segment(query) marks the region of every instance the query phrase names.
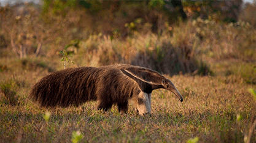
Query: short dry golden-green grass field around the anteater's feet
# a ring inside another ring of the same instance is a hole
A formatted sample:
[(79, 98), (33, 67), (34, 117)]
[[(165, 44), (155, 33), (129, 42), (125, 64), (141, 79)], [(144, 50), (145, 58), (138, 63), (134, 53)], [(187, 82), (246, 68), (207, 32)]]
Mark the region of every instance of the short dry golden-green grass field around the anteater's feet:
[[(19, 60), (1, 59), (7, 65), (8, 61)], [(47, 75), (48, 68), (12, 65), (0, 73), (1, 81), (5, 81), (1, 86), (18, 99), (7, 102), (12, 100), (1, 93), (0, 142), (71, 142), (76, 133), (82, 134), (77, 138), (81, 142), (256, 141), (256, 99), (249, 92), (255, 84), (236, 74), (223, 76), (215, 70), (215, 76), (166, 75), (184, 96), (184, 102), (167, 90), (154, 90), (152, 115), (138, 116), (132, 105), (128, 114), (120, 115), (115, 106), (108, 112), (97, 111), (96, 102), (79, 108), (40, 108), (26, 97), (31, 86)], [(221, 73), (230, 72), (225, 64), (215, 66)]]

